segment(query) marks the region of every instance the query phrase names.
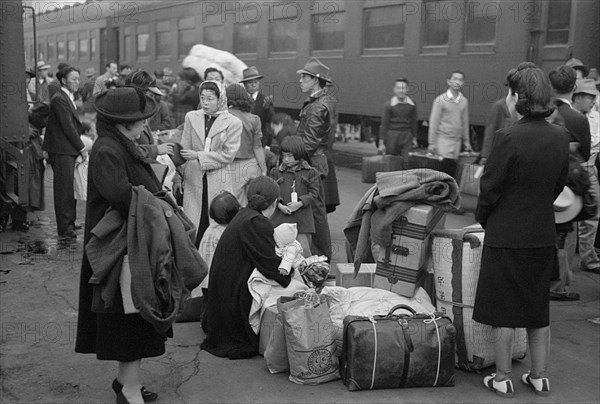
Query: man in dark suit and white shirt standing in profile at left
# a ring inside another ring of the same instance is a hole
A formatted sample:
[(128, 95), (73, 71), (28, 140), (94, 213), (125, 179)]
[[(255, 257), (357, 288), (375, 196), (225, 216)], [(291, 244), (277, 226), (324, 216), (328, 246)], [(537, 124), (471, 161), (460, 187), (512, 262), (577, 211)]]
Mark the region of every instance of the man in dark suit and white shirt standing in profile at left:
[(50, 116), (43, 149), (54, 172), (54, 213), (58, 235), (75, 238), (76, 201), (73, 190), (75, 160), (86, 159), (85, 146), (79, 137), (83, 125), (77, 115), (75, 92), (79, 88), (79, 70), (67, 67), (57, 73), (61, 89), (50, 100)]

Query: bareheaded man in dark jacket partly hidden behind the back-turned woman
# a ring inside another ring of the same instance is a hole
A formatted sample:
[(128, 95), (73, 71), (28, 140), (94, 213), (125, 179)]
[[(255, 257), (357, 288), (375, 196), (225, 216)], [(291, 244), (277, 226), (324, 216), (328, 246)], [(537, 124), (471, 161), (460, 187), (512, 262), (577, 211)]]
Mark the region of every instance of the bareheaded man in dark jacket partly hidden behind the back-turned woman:
[[(556, 111), (552, 116), (555, 124), (564, 126), (569, 132), (571, 142), (579, 143), (577, 153), (581, 156), (582, 161), (588, 161), (590, 158), (590, 124), (587, 118), (580, 112), (573, 109), (572, 98), (577, 80), (577, 73), (572, 67), (567, 65), (559, 66), (548, 75), (550, 83), (556, 95)], [(576, 225), (577, 223), (575, 223)], [(560, 279), (553, 281), (550, 285), (550, 299), (561, 301), (576, 301), (580, 296), (578, 293), (570, 291), (571, 280), (573, 279), (573, 262), (570, 259), (576, 256), (573, 251), (577, 244), (577, 229), (570, 226), (569, 231), (558, 231), (564, 233), (560, 235), (559, 245), (559, 270)], [(564, 240), (564, 245), (562, 245)], [(566, 251), (561, 251), (566, 250)], [(566, 259), (561, 259), (562, 255)]]

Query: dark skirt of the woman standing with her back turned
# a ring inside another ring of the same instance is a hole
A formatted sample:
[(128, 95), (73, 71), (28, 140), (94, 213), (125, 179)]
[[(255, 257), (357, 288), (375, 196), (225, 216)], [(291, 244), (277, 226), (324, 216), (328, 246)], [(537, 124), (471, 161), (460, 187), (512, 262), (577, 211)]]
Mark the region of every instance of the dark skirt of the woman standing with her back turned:
[(484, 245), (473, 320), (493, 327), (541, 328), (550, 324), (550, 278), (556, 248)]

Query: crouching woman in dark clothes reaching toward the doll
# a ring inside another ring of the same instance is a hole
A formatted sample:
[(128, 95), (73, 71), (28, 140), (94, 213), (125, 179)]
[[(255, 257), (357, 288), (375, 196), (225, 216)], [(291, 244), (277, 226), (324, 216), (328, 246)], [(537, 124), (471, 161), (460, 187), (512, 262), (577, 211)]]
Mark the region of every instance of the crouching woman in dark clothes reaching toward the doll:
[(281, 257), (275, 254), (273, 225), (269, 217), (279, 201), (279, 186), (268, 177), (248, 183), (248, 206), (240, 209), (221, 235), (210, 268), (208, 334), (201, 348), (229, 359), (258, 355), (258, 335), (248, 321), (252, 296), (248, 278), (258, 269), (281, 286), (290, 284), (290, 275), (281, 275)]

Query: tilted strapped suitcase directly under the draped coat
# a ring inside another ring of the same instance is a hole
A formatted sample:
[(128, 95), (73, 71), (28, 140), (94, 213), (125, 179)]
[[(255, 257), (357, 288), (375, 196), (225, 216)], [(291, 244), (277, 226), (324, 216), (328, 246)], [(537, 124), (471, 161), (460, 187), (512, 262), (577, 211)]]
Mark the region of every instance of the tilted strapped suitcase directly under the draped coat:
[(373, 287), (412, 297), (427, 277), (431, 232), (444, 226), (444, 212), (430, 205), (415, 205), (392, 223), (392, 240), (380, 253)]

